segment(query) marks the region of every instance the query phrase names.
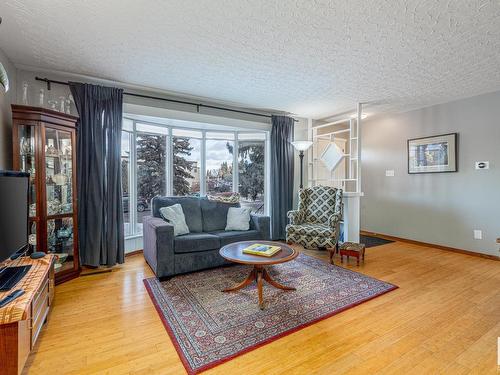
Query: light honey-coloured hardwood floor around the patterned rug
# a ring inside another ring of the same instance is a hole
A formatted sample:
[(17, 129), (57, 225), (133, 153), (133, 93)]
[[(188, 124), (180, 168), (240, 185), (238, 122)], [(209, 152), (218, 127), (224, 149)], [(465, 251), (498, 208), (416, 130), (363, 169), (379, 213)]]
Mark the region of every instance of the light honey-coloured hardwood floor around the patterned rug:
[[(206, 374), (500, 373), (498, 261), (395, 242), (368, 248), (364, 265), (351, 259), (348, 267), (399, 289)], [(144, 289), (149, 276), (139, 254), (111, 273), (58, 286), (24, 374), (185, 373)]]

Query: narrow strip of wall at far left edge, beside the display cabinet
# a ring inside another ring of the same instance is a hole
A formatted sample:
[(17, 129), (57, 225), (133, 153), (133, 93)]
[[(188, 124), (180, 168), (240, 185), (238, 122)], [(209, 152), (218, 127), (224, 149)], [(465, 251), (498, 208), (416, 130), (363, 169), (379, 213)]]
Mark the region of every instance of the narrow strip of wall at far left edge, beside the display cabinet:
[(10, 89), (0, 89), (0, 169), (12, 169), (12, 111), (10, 105), (16, 96), (16, 69), (0, 49), (0, 62), (7, 71)]

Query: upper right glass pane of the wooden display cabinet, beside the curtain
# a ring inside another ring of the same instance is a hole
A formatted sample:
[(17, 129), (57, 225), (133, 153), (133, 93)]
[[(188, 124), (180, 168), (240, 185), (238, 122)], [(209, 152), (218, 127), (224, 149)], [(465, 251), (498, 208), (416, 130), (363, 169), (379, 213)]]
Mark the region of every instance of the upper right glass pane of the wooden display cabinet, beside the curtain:
[(45, 191), (47, 215), (73, 212), (71, 133), (45, 129)]

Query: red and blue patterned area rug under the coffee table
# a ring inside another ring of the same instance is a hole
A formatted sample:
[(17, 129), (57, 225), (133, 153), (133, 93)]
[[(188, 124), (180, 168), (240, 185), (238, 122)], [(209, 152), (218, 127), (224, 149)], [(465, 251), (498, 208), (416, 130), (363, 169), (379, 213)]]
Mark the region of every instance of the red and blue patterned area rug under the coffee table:
[(230, 266), (176, 276), (146, 288), (184, 367), (196, 374), (364, 301), (395, 285), (300, 254), (268, 267), (282, 291), (264, 282), (265, 309), (256, 285), (238, 292), (222, 289), (245, 279), (251, 267)]

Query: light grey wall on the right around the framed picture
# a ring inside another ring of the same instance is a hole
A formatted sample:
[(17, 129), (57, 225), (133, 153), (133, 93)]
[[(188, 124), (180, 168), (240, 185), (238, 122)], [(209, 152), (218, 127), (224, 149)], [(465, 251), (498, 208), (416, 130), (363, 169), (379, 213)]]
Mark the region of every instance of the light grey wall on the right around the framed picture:
[[(457, 173), (407, 173), (407, 139), (454, 132)], [(362, 229), (500, 255), (500, 92), (365, 120), (362, 147)]]

